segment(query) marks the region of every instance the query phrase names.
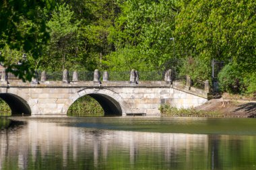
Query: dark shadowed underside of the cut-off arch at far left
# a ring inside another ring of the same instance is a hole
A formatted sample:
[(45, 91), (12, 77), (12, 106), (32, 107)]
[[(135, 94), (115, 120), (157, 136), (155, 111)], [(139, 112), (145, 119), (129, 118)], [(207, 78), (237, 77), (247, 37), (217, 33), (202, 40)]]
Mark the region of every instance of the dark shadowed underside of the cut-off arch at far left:
[(31, 115), (30, 106), (22, 97), (11, 93), (0, 93), (0, 97), (9, 105), (9, 108), (11, 108), (12, 116), (22, 114), (26, 116)]

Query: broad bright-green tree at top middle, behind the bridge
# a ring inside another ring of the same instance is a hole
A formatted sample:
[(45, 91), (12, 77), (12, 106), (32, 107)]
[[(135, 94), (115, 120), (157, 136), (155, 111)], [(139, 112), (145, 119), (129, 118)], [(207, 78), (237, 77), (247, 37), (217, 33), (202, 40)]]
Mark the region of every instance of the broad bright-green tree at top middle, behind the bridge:
[(128, 65), (138, 65), (145, 71), (164, 69), (162, 65), (174, 58), (174, 43), (170, 40), (176, 13), (174, 3), (127, 0), (119, 5), (122, 13), (110, 36), (117, 52), (108, 56), (109, 66), (122, 57), (121, 60), (131, 61)]

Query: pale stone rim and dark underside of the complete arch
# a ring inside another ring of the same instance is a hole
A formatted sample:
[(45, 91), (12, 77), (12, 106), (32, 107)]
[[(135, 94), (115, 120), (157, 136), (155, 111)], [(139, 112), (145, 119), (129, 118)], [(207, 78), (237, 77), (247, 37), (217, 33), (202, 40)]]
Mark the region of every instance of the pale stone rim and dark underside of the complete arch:
[(122, 97), (119, 94), (115, 93), (115, 91), (111, 91), (110, 89), (106, 88), (82, 89), (80, 91), (77, 91), (77, 93), (75, 93), (72, 98), (71, 104), (75, 102), (79, 97), (83, 97), (84, 95), (89, 95), (90, 97), (96, 99), (96, 101), (100, 103), (102, 109), (104, 110), (105, 116), (125, 116), (127, 113), (131, 113), (129, 105), (125, 103), (125, 101), (123, 101)]

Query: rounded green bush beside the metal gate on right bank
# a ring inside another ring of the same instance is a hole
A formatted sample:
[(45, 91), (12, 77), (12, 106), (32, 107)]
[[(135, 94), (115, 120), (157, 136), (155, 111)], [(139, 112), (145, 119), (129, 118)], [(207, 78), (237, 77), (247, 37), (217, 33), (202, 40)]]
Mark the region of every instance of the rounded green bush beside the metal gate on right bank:
[(245, 91), (243, 83), (243, 73), (238, 64), (232, 62), (226, 65), (218, 75), (220, 89), (228, 93), (241, 93)]

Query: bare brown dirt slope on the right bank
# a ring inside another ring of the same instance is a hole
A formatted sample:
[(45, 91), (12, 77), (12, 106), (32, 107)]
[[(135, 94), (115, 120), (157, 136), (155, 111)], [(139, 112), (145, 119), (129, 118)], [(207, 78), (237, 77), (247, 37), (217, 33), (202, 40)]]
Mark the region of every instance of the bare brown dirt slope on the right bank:
[(220, 112), (224, 116), (254, 118), (256, 117), (256, 100), (210, 99), (195, 109)]

